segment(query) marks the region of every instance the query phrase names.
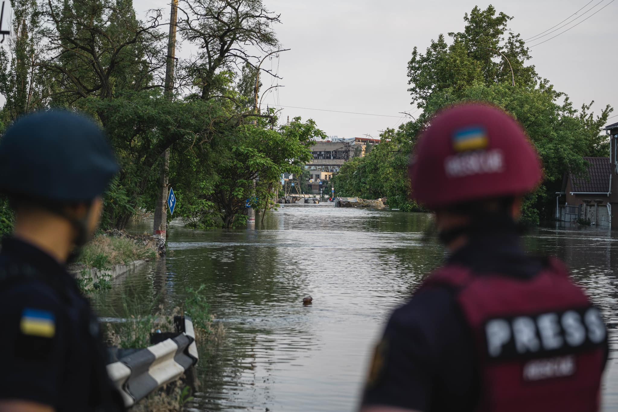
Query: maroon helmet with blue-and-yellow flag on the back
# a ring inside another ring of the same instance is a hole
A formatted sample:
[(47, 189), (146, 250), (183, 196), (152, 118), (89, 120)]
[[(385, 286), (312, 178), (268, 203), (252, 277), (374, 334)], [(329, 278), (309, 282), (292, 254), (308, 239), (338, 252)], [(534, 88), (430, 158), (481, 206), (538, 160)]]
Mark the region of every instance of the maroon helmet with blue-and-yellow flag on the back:
[(410, 164), (412, 198), (430, 209), (525, 195), (541, 162), (523, 128), (501, 109), (459, 104), (434, 117)]

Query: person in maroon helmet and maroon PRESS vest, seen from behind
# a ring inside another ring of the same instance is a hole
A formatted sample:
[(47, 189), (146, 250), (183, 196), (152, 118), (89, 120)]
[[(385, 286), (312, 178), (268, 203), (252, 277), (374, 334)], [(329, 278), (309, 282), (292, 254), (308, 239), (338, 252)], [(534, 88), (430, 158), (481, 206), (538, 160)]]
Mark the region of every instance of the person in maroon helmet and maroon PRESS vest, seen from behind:
[(542, 179), (522, 127), (496, 107), (449, 107), (410, 178), (449, 258), (389, 319), (362, 412), (597, 411), (601, 313), (562, 263), (520, 246), (522, 199)]

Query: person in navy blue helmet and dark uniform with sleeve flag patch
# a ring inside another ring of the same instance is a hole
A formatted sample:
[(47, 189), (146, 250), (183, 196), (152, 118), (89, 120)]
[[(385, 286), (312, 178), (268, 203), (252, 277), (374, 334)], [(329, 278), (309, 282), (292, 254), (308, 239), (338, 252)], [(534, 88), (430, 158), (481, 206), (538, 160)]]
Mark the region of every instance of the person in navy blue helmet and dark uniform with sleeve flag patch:
[(15, 212), (0, 251), (0, 411), (121, 411), (99, 324), (68, 261), (95, 231), (119, 167), (86, 117), (43, 111), (0, 138), (0, 191)]

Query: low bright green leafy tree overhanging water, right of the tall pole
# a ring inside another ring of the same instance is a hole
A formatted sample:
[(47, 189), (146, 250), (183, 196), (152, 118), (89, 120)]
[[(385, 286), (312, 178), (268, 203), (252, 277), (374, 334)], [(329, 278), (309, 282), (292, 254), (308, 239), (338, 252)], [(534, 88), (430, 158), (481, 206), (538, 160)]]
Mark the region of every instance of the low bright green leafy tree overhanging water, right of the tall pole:
[(281, 174), (300, 173), (310, 159), (314, 137), (326, 135), (313, 120), (299, 117), (279, 130), (269, 128), (266, 120), (229, 129), (224, 138), (210, 141), (208, 161), (197, 162), (189, 174), (177, 168), (170, 178), (179, 187), (199, 187), (184, 190), (195, 195), (179, 198), (184, 202), (179, 212), (200, 228), (243, 224), (245, 201), (256, 197), (258, 207), (269, 208)]

